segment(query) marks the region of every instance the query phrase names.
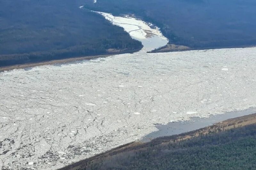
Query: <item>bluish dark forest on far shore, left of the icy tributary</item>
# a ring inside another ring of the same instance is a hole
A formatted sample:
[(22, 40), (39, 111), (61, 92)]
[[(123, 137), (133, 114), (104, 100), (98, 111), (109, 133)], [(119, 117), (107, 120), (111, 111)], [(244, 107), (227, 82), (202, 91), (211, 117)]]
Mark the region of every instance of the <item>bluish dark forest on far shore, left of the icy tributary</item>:
[[(138, 51), (140, 41), (79, 0), (1, 0), (0, 66)], [(109, 50), (110, 49), (110, 50)], [(111, 50), (113, 49), (113, 50)]]

